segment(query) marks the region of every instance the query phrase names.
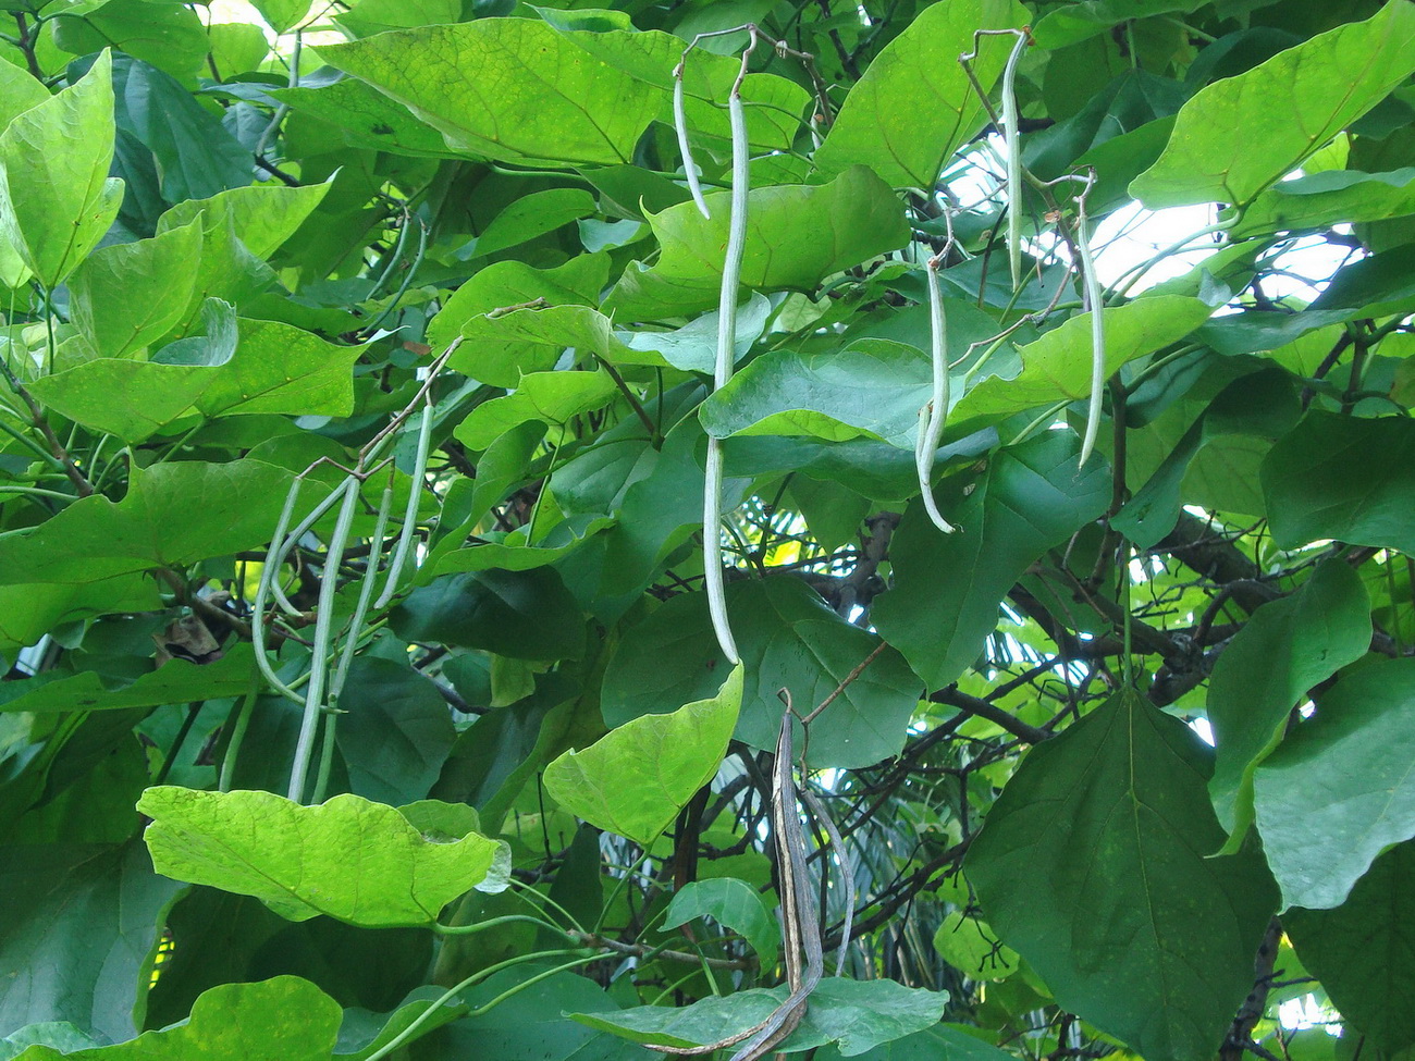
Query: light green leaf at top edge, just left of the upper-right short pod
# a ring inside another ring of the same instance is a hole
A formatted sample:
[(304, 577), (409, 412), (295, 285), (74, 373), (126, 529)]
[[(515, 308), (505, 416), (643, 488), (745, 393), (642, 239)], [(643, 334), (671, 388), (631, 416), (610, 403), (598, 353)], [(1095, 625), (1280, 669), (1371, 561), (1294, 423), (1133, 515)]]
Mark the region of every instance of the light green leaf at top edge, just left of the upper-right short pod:
[[(894, 187), (932, 188), (954, 151), (988, 122), (958, 57), (974, 50), (975, 30), (1029, 21), (1027, 10), (1013, 0), (949, 0), (925, 7), (850, 89), (815, 153), (816, 167), (838, 174), (865, 164)], [(981, 41), (974, 71), (990, 91), (1013, 38)]]

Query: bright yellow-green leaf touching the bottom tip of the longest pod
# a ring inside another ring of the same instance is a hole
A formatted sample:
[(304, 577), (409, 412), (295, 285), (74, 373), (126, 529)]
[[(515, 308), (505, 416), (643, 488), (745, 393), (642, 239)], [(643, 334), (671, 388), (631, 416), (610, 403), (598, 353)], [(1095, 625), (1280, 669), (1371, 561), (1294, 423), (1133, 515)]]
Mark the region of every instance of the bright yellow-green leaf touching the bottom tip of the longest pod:
[(590, 825), (648, 847), (712, 781), (741, 707), (741, 666), (717, 696), (645, 714), (545, 768), (545, 788)]

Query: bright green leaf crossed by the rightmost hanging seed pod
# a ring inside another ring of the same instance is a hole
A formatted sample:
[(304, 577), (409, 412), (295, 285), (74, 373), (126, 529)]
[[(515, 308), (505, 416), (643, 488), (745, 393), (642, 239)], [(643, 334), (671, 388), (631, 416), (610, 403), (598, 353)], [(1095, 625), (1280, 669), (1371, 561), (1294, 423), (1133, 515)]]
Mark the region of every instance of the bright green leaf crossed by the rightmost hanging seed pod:
[[(1203, 324), (1214, 307), (1199, 298), (1157, 294), (1109, 307), (1105, 314), (1105, 375), (1177, 342)], [(1036, 342), (1017, 348), (1022, 372), (988, 376), (957, 400), (954, 430), (975, 430), (1013, 413), (1081, 399), (1091, 393), (1091, 314), (1070, 317)]]

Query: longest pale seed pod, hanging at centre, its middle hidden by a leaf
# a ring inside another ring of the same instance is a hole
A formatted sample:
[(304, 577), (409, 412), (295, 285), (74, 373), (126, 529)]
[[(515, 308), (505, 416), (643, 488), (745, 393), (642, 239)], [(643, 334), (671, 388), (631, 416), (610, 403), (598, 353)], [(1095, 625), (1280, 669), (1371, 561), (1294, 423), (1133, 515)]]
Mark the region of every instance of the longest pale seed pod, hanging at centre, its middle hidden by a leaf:
[[(746, 61), (744, 61), (746, 62)], [(747, 119), (741, 108), (741, 93), (734, 85), (727, 98), (732, 119), (732, 216), (727, 222), (727, 252), (722, 263), (722, 294), (717, 301), (717, 364), (713, 390), (732, 379), (732, 365), (737, 347), (737, 284), (741, 279), (741, 255), (747, 246)], [(722, 583), (722, 443), (708, 440), (708, 475), (703, 484), (703, 581), (708, 587), (708, 610), (713, 631), (727, 662), (736, 665), (737, 642), (727, 622), (727, 601)]]

